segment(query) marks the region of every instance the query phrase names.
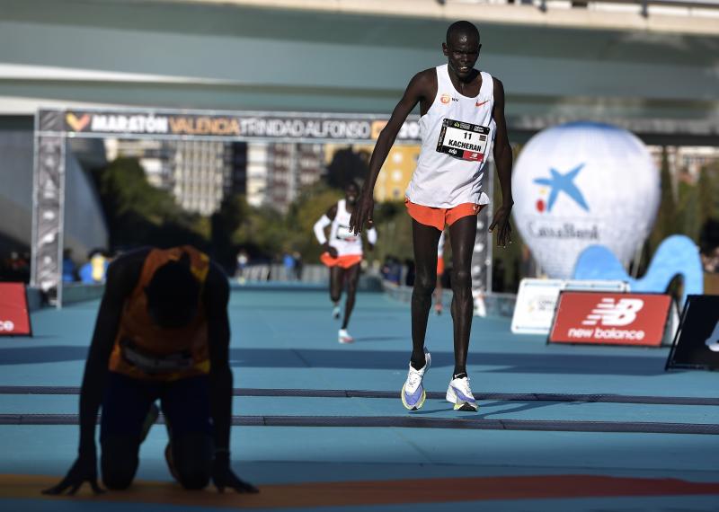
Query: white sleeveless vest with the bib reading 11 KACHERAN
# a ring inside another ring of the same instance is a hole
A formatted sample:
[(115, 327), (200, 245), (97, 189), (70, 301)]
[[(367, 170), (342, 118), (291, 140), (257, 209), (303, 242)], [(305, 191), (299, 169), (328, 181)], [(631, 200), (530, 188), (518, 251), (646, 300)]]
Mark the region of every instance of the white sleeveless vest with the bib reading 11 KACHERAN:
[(479, 94), (468, 98), (457, 93), (446, 64), (436, 70), (437, 96), (420, 119), (422, 150), (407, 199), (442, 208), (488, 204), (482, 183), (496, 128), (492, 75), (482, 71)]

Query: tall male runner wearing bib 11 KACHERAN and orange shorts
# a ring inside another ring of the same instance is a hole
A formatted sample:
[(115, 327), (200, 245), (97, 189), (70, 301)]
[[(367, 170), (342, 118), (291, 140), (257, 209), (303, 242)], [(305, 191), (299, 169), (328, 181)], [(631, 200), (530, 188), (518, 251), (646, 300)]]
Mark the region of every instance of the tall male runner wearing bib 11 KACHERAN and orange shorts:
[(350, 223), (352, 231), (359, 233), (365, 222), (371, 221), (372, 192), (377, 174), (404, 119), (419, 103), (422, 150), (406, 192), (406, 206), (413, 218), (417, 272), (412, 296), (413, 351), (409, 374), (402, 388), (402, 402), (410, 410), (422, 407), (425, 399), (422, 377), (430, 367), (431, 358), (424, 349), (424, 336), (436, 282), (437, 243), (445, 225), (449, 225), (452, 247), (454, 297), (451, 312), (455, 349), (455, 367), (447, 400), (456, 410), (477, 410), (466, 375), (472, 324), (470, 262), (475, 245), (476, 214), (489, 203), (482, 181), (484, 165), (492, 148), (503, 203), (494, 213), (489, 231), (497, 226), (499, 245), (511, 242), (512, 162), (504, 119), (504, 89), (498, 79), (475, 70), (481, 48), (475, 25), (455, 22), (449, 26), (447, 41), (442, 44), (448, 63), (413, 76), (377, 138), (369, 162), (368, 180)]

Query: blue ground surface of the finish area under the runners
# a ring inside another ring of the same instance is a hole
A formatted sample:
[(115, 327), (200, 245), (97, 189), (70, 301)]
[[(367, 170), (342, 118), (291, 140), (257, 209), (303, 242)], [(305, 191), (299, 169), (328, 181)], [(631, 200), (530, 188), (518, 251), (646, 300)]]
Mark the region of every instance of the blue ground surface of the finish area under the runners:
[(232, 458), (259, 495), (182, 490), (158, 424), (130, 490), (45, 497), (75, 458), (97, 307), (41, 310), (34, 338), (0, 338), (2, 510), (719, 510), (715, 373), (666, 373), (667, 349), (546, 345), (511, 334), (508, 319), (475, 318), (480, 410), (455, 411), (446, 314), (430, 318), (428, 397), (409, 412), (409, 306), (360, 293), (355, 343), (340, 345), (328, 294), (313, 287), (232, 294)]

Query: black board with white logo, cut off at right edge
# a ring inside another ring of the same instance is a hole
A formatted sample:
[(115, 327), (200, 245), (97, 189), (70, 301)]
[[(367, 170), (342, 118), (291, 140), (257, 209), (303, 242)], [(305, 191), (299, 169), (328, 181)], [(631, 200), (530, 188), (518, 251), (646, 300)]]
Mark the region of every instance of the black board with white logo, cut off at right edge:
[(667, 369), (719, 370), (719, 296), (688, 296)]

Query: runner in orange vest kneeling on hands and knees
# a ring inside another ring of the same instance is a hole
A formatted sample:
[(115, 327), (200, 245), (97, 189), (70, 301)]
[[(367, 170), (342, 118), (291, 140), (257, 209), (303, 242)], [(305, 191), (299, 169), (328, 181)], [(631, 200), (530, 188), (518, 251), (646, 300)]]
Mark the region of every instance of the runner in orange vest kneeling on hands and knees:
[(85, 481), (102, 492), (101, 403), (102, 481), (127, 489), (157, 399), (170, 432), (165, 456), (184, 488), (202, 489), (211, 478), (220, 492), (257, 492), (230, 469), (228, 298), (222, 270), (190, 246), (140, 249), (111, 264), (80, 392), (79, 455), (46, 494), (74, 494)]

